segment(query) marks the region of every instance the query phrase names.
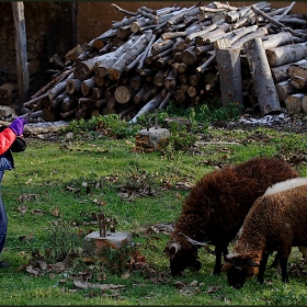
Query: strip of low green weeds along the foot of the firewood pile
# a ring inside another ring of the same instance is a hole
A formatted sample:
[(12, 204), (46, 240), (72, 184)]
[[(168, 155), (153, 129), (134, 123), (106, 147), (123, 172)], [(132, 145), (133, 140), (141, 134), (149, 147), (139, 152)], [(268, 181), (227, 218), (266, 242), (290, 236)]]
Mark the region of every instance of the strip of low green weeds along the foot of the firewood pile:
[(80, 139), (87, 134), (92, 134), (93, 136), (103, 134), (115, 138), (126, 138), (136, 136), (141, 128), (154, 126), (156, 121), (159, 126), (163, 126), (167, 117), (177, 116), (189, 118), (192, 124), (193, 133), (203, 132), (205, 134), (211, 123), (236, 120), (240, 113), (241, 106), (235, 103), (221, 106), (218, 100), (214, 100), (209, 103), (204, 102), (203, 104), (189, 109), (179, 107), (170, 101), (166, 110), (156, 110), (155, 112), (141, 114), (137, 118), (137, 124), (123, 121), (117, 114), (100, 114), (90, 120), (73, 120), (70, 122), (67, 130), (72, 132), (77, 139)]

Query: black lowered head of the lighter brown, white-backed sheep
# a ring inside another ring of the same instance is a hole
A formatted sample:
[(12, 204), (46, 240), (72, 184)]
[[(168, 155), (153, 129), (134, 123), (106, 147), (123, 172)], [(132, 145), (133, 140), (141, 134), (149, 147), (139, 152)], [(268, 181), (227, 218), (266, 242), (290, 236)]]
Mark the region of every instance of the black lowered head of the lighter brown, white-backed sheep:
[(226, 257), (223, 271), (227, 272), (229, 286), (241, 288), (247, 278), (253, 277), (259, 270), (259, 264), (250, 258)]

